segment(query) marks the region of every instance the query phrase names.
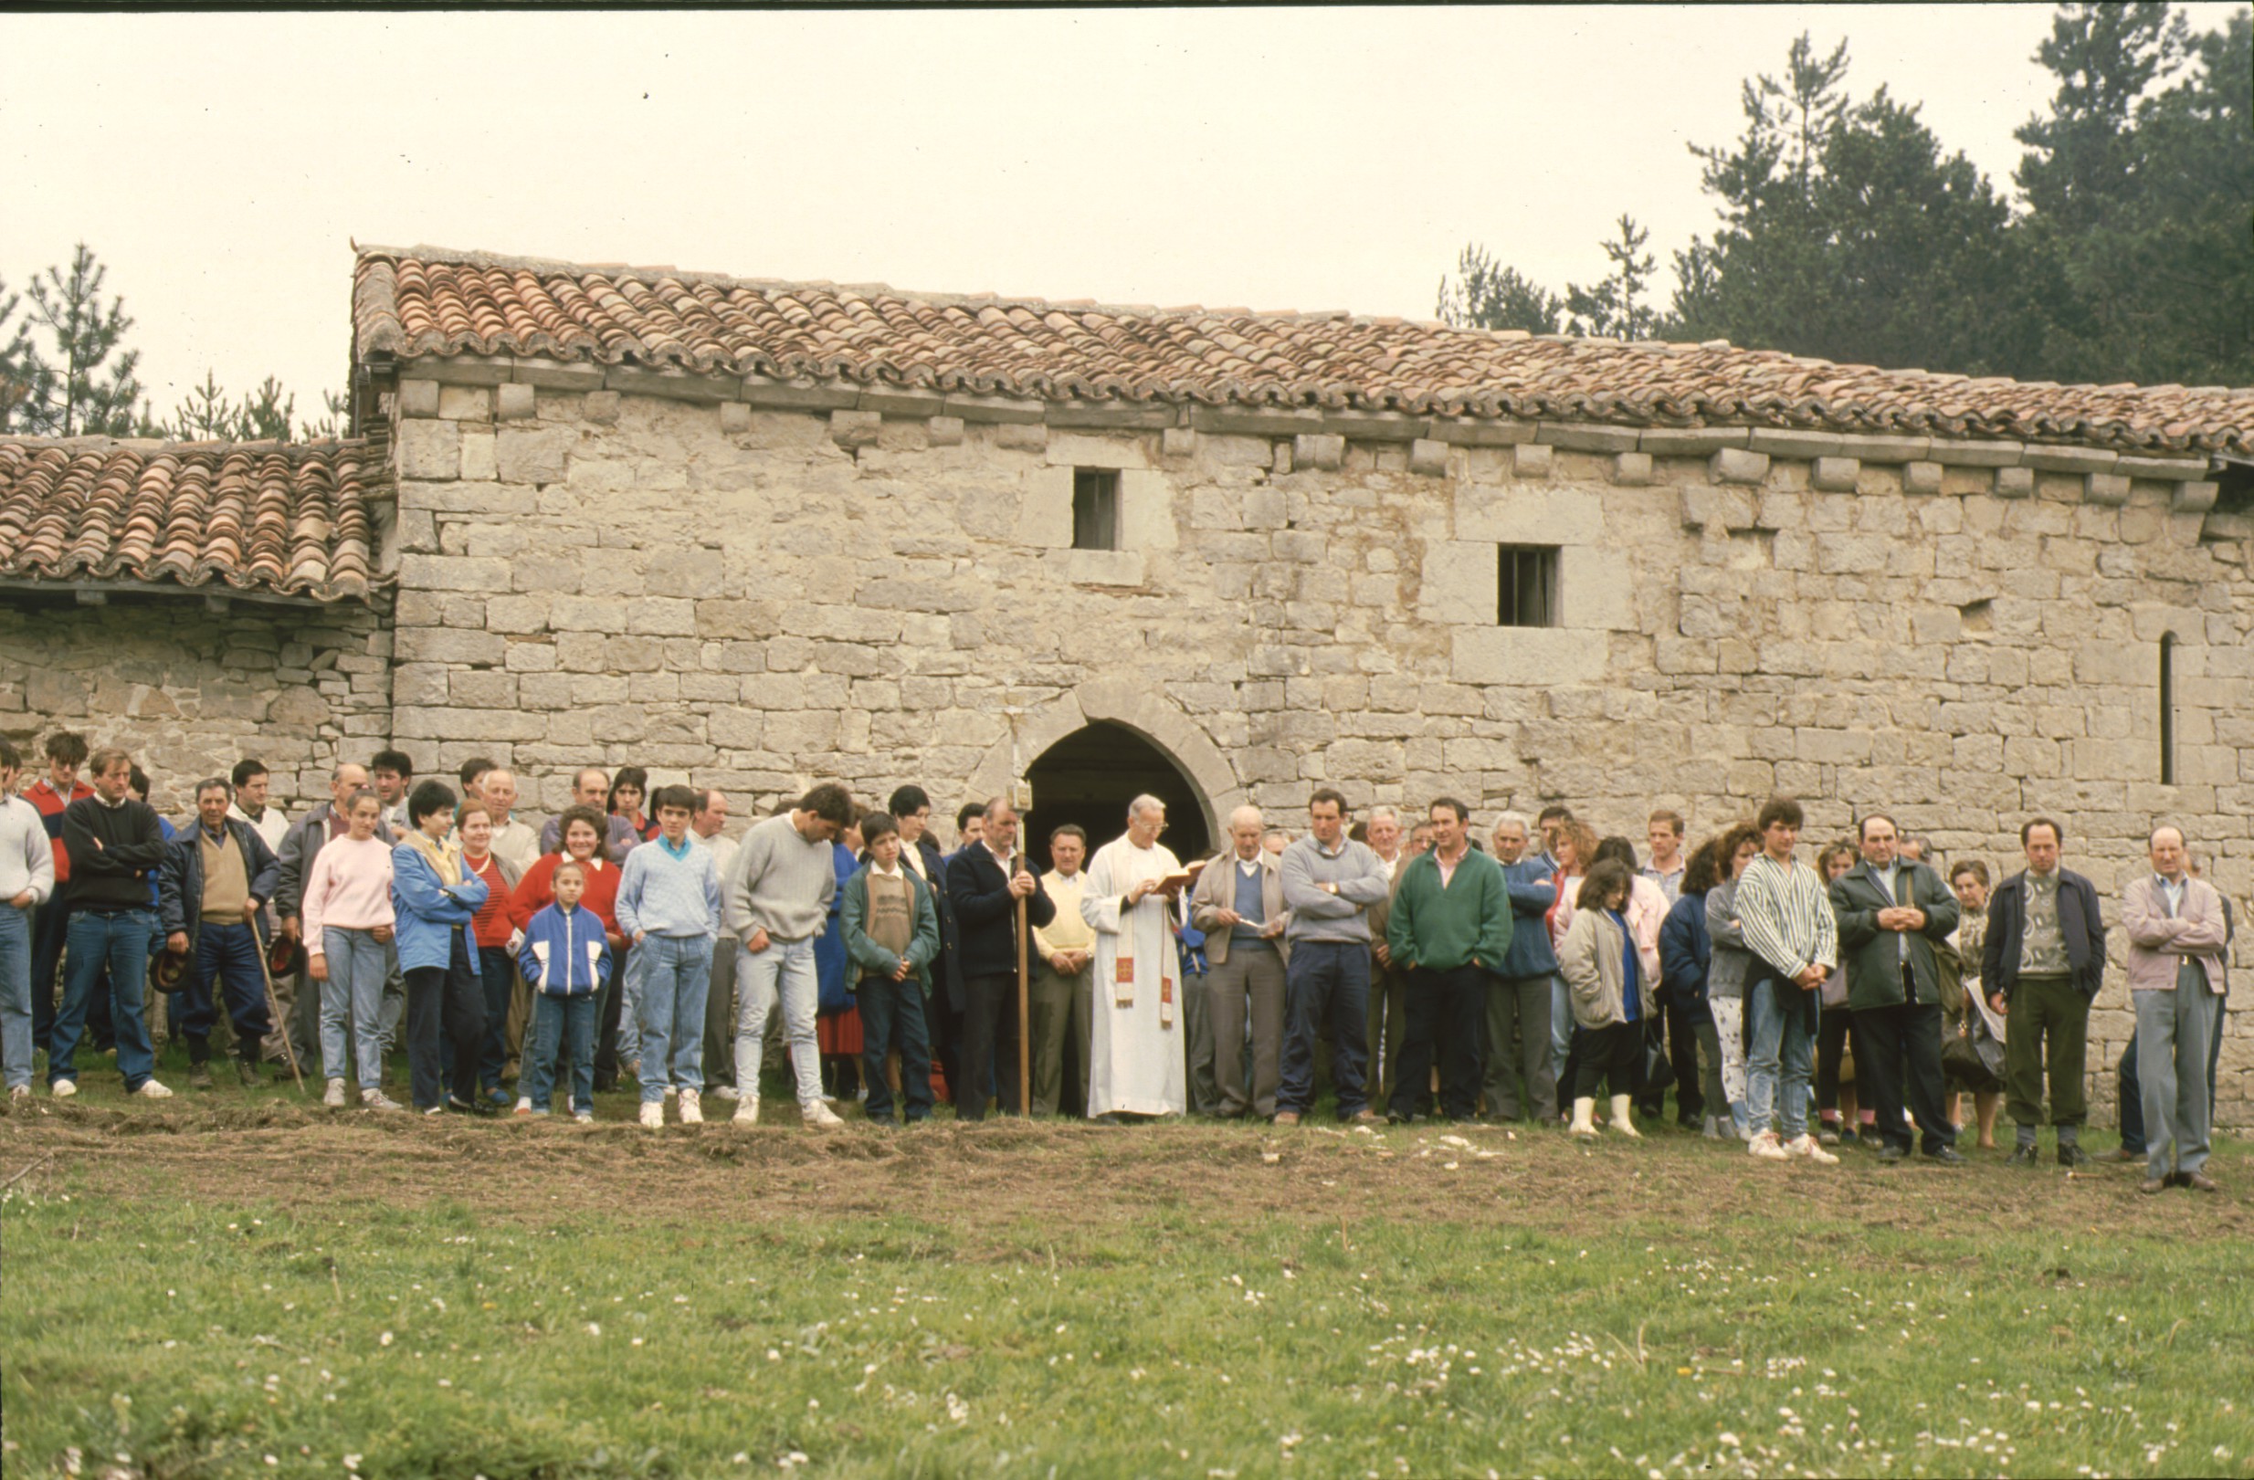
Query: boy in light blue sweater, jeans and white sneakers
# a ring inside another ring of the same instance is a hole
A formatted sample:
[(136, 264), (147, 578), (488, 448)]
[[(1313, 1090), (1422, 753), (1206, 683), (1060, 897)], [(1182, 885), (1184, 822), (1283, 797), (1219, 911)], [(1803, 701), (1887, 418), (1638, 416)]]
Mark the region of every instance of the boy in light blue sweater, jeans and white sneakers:
[(681, 1095), (681, 1124), (703, 1122), (703, 1009), (719, 937), (719, 870), (690, 840), (696, 793), (658, 786), (658, 836), (627, 854), (618, 876), (618, 930), (633, 944), (642, 980), (642, 1124), (665, 1124), (665, 1095)]

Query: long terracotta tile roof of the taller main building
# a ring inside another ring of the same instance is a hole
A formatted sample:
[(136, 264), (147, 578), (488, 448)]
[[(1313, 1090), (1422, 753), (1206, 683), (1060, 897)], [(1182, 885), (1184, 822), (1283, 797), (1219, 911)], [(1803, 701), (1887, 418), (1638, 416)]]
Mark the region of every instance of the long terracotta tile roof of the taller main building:
[(361, 248), (356, 354), (523, 354), (1080, 401), (1199, 401), (2254, 448), (2254, 390), (2051, 385), (1346, 313), (897, 293)]

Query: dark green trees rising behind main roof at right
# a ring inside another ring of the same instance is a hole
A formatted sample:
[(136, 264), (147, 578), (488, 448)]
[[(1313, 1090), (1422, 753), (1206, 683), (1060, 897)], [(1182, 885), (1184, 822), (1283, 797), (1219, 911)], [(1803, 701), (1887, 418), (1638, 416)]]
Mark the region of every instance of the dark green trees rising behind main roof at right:
[(1607, 275), (1564, 293), (1470, 243), (1440, 318), (1483, 329), (1729, 340), (1826, 360), (2024, 381), (2254, 383), (2254, 11), (2062, 5), (2056, 79), (2011, 196), (1887, 88), (1848, 90), (1842, 41), (1792, 43), (1745, 83), (1745, 131), (1693, 146), (1718, 221), (1659, 302), (1623, 214)]

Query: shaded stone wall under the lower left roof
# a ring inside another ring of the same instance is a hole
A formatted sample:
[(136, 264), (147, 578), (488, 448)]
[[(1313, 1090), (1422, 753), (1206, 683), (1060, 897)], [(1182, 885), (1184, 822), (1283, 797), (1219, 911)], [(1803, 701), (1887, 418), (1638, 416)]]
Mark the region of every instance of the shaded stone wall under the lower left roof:
[(106, 606), (0, 595), (0, 732), (45, 768), (52, 730), (124, 746), (167, 815), (259, 757), (291, 811), (327, 797), (338, 759), (390, 734), (390, 631), (358, 604), (264, 606), (113, 595)]

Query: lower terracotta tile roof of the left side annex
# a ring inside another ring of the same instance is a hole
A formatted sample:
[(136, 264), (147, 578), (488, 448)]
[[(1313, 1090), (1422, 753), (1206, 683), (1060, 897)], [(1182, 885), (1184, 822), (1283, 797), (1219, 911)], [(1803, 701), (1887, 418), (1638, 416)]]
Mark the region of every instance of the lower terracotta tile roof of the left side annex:
[(0, 437), (0, 577), (367, 597), (383, 480), (361, 442)]

